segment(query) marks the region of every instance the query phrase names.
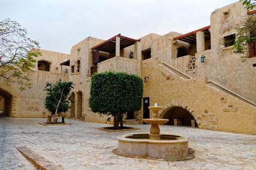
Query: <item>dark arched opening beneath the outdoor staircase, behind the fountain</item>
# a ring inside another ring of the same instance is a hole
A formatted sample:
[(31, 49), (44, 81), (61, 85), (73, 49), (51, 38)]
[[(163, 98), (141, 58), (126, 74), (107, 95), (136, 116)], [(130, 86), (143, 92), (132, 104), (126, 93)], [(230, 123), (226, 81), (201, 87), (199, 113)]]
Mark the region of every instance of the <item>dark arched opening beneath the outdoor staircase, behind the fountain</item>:
[(166, 113), (163, 115), (163, 118), (169, 119), (166, 125), (198, 127), (193, 115), (191, 115), (188, 110), (181, 107), (170, 108), (170, 110), (167, 110)]

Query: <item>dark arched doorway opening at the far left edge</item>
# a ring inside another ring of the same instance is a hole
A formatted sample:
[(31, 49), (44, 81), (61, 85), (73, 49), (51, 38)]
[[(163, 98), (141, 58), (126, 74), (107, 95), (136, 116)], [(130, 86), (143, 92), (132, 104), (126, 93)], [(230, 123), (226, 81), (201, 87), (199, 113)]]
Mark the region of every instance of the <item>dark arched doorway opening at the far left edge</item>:
[(12, 99), (12, 94), (0, 89), (0, 116), (10, 117), (12, 115)]

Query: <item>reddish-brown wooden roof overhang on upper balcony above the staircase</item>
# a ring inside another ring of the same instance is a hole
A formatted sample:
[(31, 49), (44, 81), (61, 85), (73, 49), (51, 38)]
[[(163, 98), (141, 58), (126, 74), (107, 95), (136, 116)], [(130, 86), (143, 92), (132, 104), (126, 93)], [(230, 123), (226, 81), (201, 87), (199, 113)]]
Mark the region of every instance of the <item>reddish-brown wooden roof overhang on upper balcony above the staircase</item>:
[(180, 40), (180, 41), (184, 41), (187, 43), (196, 43), (196, 32), (198, 32), (198, 31), (203, 31), (205, 39), (210, 39), (211, 38), (211, 33), (209, 31), (210, 27), (211, 26), (209, 25), (207, 27), (197, 29), (196, 31), (188, 32), (187, 34), (183, 34), (183, 35), (173, 38), (173, 40)]

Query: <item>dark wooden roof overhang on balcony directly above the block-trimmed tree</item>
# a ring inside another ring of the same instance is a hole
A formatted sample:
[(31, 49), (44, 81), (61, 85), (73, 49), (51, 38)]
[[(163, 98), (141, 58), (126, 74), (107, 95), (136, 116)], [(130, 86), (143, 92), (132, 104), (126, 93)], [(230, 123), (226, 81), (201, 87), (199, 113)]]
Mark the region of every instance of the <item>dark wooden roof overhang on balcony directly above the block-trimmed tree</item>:
[(136, 41), (140, 41), (140, 39), (132, 39), (128, 38), (126, 36), (121, 36), (121, 34), (117, 34), (116, 36), (113, 36), (112, 38), (109, 38), (106, 41), (103, 41), (102, 43), (99, 43), (99, 45), (93, 46), (92, 50), (99, 50), (102, 52), (115, 52), (116, 49), (116, 37), (120, 37), (120, 49), (123, 49), (127, 46), (131, 46)]

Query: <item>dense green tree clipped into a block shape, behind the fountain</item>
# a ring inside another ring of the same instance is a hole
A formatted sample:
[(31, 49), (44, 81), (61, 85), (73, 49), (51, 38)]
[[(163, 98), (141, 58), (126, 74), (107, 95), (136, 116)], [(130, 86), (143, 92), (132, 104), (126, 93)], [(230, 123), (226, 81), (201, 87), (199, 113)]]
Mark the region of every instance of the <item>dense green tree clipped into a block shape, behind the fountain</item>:
[(139, 76), (105, 72), (92, 76), (90, 108), (95, 113), (114, 117), (114, 128), (122, 127), (123, 114), (141, 108), (143, 83)]

